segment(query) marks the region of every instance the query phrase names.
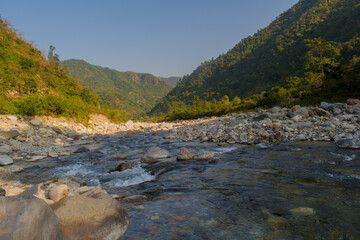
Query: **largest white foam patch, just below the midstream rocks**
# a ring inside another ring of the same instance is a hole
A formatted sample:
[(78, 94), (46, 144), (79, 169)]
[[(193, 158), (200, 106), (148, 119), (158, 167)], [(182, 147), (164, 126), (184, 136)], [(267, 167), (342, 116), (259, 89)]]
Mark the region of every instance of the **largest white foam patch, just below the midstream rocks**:
[(155, 176), (145, 172), (140, 166), (127, 169), (123, 172), (112, 172), (109, 175), (115, 179), (104, 183), (108, 187), (126, 187), (155, 179)]

